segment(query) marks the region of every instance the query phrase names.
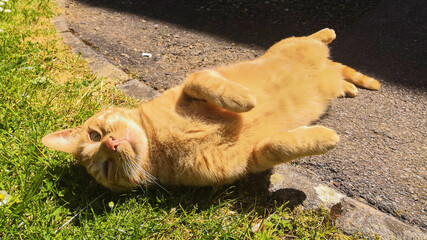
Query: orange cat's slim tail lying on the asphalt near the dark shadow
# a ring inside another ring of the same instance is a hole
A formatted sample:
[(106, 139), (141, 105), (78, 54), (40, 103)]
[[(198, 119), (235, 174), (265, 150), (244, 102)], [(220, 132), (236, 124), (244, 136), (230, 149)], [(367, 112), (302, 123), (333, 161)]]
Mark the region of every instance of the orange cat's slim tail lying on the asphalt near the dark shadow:
[(340, 66), (341, 72), (347, 82), (353, 83), (356, 86), (367, 88), (370, 90), (380, 89), (381, 84), (377, 80), (371, 77), (368, 77), (366, 75), (363, 75), (362, 73), (344, 64), (337, 63), (337, 62), (334, 62), (334, 63)]

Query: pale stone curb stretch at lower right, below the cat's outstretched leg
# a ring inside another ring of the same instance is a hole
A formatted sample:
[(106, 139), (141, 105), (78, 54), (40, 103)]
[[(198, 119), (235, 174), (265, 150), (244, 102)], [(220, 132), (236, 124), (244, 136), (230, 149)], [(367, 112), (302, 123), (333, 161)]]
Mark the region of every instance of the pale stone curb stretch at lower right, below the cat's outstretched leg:
[(427, 239), (419, 228), (347, 197), (322, 184), (313, 174), (290, 164), (282, 164), (273, 170), (269, 190), (294, 206), (331, 209), (338, 228), (348, 234), (360, 232), (369, 239)]

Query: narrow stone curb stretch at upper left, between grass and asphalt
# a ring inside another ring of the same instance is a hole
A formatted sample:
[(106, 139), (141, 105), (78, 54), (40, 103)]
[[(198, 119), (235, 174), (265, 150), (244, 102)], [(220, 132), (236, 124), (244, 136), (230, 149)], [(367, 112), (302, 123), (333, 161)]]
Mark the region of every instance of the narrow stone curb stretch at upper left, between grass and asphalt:
[[(57, 0), (58, 6), (62, 9), (66, 8), (66, 3), (67, 0)], [(116, 80), (118, 83), (117, 88), (134, 98), (150, 100), (160, 96), (160, 93), (156, 90), (142, 84), (138, 80), (132, 79), (124, 71), (108, 61), (104, 55), (81, 41), (69, 27), (63, 15), (53, 18), (52, 22), (64, 39), (64, 42), (71, 47), (74, 54), (81, 55), (86, 59), (90, 70), (95, 75)]]

